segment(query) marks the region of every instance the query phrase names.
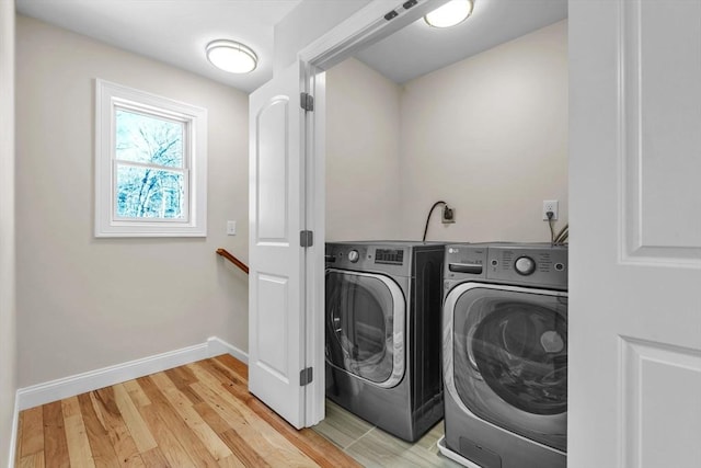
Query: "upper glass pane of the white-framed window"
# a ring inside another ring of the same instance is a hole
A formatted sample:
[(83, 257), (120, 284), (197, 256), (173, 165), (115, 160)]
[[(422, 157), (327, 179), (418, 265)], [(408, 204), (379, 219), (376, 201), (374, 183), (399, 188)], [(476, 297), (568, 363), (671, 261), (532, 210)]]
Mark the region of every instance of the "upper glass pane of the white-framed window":
[(116, 158), (123, 161), (183, 167), (181, 122), (116, 109)]

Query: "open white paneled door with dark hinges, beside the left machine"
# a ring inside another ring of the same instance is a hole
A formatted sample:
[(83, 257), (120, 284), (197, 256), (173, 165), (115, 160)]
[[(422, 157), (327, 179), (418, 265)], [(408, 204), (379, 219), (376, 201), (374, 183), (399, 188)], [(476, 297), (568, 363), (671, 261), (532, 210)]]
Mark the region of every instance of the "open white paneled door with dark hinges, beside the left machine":
[(249, 102), (249, 390), (306, 425), (302, 78), (295, 64)]

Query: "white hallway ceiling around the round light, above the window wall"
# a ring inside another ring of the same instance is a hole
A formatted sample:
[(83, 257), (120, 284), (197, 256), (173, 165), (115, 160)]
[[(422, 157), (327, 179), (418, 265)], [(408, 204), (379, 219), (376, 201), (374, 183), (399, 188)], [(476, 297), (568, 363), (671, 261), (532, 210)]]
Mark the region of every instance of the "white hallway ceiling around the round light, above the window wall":
[[(251, 92), (273, 77), (273, 26), (301, 0), (15, 0), (20, 13)], [(251, 73), (215, 68), (214, 39), (258, 56)]]

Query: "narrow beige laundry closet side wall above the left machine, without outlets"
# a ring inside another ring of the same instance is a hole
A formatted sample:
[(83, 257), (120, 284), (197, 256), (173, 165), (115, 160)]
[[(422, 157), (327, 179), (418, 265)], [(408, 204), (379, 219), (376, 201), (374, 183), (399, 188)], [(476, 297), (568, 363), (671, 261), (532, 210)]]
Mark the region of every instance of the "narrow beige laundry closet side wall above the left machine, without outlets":
[(400, 235), (400, 98), (354, 58), (327, 71), (327, 241)]

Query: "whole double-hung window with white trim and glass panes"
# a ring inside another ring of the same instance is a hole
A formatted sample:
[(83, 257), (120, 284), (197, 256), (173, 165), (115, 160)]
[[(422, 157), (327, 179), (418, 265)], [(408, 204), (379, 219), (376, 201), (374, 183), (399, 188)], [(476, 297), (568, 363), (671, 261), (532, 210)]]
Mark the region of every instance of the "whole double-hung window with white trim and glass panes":
[(207, 111), (95, 81), (95, 236), (207, 235)]

